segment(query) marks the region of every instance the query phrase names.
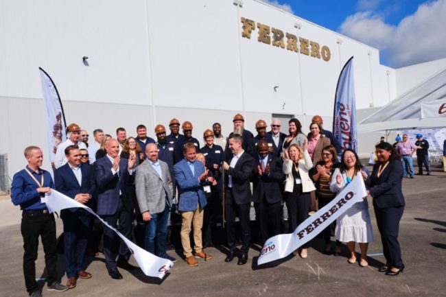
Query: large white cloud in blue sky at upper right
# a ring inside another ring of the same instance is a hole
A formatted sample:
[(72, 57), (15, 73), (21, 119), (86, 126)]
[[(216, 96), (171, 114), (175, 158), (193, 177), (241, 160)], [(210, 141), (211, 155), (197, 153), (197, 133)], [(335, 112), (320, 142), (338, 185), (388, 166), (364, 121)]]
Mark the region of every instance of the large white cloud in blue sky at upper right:
[(446, 0), (426, 2), (397, 26), (373, 12), (357, 12), (340, 25), (340, 33), (381, 50), (392, 67), (446, 57)]

